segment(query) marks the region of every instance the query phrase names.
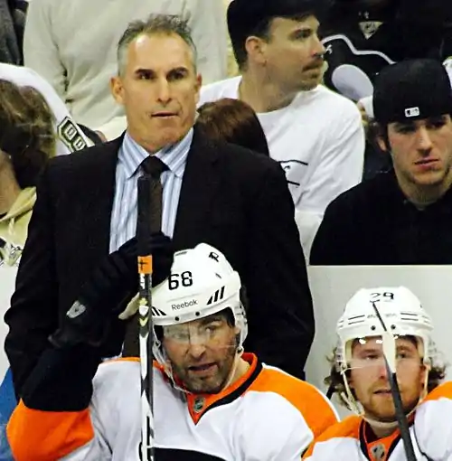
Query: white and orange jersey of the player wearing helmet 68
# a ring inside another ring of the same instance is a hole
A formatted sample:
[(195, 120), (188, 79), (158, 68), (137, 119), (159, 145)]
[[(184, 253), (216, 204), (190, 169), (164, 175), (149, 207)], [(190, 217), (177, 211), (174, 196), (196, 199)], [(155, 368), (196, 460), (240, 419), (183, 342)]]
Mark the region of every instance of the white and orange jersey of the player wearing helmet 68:
[[(175, 390), (154, 370), (158, 461), (299, 461), (314, 437), (337, 422), (314, 386), (244, 354), (250, 369), (216, 395)], [(44, 412), (21, 402), (7, 428), (17, 461), (137, 461), (140, 369), (130, 359), (105, 362), (89, 409)]]

